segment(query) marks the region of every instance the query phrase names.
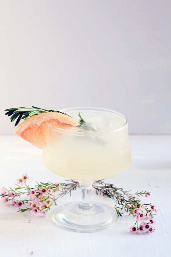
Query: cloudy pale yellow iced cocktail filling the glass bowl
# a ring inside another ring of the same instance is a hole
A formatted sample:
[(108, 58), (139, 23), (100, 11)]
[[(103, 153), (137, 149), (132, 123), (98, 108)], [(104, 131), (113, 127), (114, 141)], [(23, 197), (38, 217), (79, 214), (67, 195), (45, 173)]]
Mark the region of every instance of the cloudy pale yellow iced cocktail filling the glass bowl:
[[(103, 109), (78, 110), (86, 121), (82, 126), (50, 128), (42, 153), (44, 165), (60, 176), (86, 183), (123, 172), (131, 163), (126, 118)], [(78, 110), (67, 114), (79, 121)]]

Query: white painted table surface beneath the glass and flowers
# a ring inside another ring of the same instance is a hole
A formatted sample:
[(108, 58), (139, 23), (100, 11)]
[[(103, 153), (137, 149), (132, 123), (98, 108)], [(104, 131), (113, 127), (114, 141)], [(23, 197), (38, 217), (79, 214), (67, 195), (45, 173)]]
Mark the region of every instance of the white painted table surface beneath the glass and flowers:
[[(17, 207), (0, 206), (0, 250), (1, 257), (18, 256), (121, 256), (156, 257), (171, 256), (171, 135), (131, 135), (133, 155), (131, 166), (122, 174), (105, 180), (125, 190), (150, 191), (151, 196), (142, 197), (142, 202), (158, 206), (155, 231), (132, 234), (133, 216), (126, 214), (111, 228), (93, 232), (78, 233), (62, 229), (47, 217), (34, 213), (17, 213)], [(28, 184), (35, 181), (64, 181), (44, 167), (41, 150), (15, 135), (0, 136), (0, 188), (14, 187), (16, 179), (28, 173)], [(80, 191), (72, 192), (58, 200), (58, 205), (80, 199)], [(93, 191), (91, 200), (113, 201), (97, 196)]]

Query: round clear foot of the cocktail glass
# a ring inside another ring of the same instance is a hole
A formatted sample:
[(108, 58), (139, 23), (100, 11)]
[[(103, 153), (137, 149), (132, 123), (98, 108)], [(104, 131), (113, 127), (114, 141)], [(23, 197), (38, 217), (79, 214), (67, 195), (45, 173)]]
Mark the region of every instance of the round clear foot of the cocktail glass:
[(56, 225), (76, 232), (96, 232), (117, 222), (115, 209), (103, 203), (91, 202), (89, 209), (82, 209), (80, 202), (62, 205), (52, 213)]

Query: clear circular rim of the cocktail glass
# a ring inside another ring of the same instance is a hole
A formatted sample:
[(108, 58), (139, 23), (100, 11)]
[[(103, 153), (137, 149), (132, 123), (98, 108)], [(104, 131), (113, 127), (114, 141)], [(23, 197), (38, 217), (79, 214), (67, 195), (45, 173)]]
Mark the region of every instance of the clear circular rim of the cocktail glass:
[(61, 109), (59, 110), (60, 112), (63, 112), (63, 113), (66, 113), (67, 114), (67, 111), (80, 111), (80, 110), (101, 110), (101, 111), (105, 111), (105, 112), (110, 112), (110, 113), (115, 113), (117, 115), (119, 115), (120, 117), (122, 117), (123, 119), (125, 119), (125, 123), (124, 125), (122, 125), (121, 127), (119, 128), (116, 128), (116, 129), (111, 129), (111, 130), (105, 130), (105, 131), (97, 131), (97, 132), (81, 132), (81, 131), (77, 131), (77, 132), (73, 132), (73, 131), (66, 131), (66, 129), (63, 129), (63, 128), (59, 128), (59, 127), (56, 127), (55, 125), (53, 125), (52, 123), (50, 123), (50, 127), (52, 127), (54, 130), (57, 130), (58, 132), (60, 133), (63, 133), (63, 134), (72, 134), (72, 135), (77, 135), (77, 136), (95, 136), (95, 135), (99, 135), (99, 134), (108, 134), (108, 133), (115, 133), (115, 132), (118, 132), (118, 131), (121, 131), (125, 128), (125, 126), (128, 124), (128, 120), (127, 118), (125, 117), (125, 115), (117, 112), (117, 111), (113, 111), (113, 110), (110, 110), (110, 109), (105, 109), (105, 108), (98, 108), (98, 107), (73, 107), (73, 108), (65, 108), (65, 109)]

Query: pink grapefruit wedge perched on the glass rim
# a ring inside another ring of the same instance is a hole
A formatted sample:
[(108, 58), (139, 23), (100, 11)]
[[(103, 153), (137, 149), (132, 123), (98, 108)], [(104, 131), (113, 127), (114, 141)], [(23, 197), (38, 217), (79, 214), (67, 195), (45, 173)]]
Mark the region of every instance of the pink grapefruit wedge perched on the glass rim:
[(48, 123), (63, 129), (79, 125), (78, 121), (68, 115), (63, 113), (47, 112), (37, 114), (26, 119), (17, 126), (13, 133), (21, 136), (34, 146), (43, 149), (46, 147), (47, 142)]

